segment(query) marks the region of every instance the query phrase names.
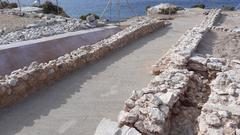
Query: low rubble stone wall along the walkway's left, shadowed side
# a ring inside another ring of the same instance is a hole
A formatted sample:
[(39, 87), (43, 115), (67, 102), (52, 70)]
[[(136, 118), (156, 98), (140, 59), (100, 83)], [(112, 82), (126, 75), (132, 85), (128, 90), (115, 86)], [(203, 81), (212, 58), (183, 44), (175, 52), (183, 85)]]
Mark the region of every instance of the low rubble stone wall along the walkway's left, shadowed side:
[(93, 45), (82, 46), (47, 63), (30, 66), (0, 78), (0, 106), (5, 107), (29, 96), (37, 88), (93, 62), (127, 43), (152, 33), (166, 24), (159, 19), (146, 19), (129, 26), (110, 38)]

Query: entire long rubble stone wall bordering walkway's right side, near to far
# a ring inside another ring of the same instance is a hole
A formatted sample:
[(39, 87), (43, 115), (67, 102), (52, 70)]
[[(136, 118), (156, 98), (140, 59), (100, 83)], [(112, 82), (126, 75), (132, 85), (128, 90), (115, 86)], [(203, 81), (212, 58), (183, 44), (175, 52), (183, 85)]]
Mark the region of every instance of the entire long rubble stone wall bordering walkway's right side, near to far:
[[(187, 31), (174, 48), (154, 66), (157, 76), (146, 88), (133, 91), (126, 100), (124, 109), (119, 114), (120, 126), (134, 127), (142, 134), (167, 135), (176, 130), (172, 122), (175, 119), (173, 114), (181, 113), (178, 104), (182, 102), (189, 105), (186, 94), (197, 88), (196, 80), (201, 81), (194, 71), (188, 70), (189, 59), (219, 15), (220, 10), (212, 10), (199, 26)], [(215, 64), (209, 63), (208, 66), (217, 69)], [(179, 122), (181, 125), (184, 120)], [(188, 134), (194, 134), (194, 129), (189, 130)], [(179, 133), (176, 131), (175, 134)]]

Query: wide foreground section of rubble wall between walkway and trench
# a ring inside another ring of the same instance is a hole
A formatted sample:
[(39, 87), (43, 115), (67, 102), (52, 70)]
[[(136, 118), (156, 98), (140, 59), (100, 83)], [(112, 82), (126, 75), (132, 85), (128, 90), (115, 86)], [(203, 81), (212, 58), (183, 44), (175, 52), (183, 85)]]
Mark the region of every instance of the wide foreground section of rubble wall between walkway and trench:
[(119, 114), (120, 125), (135, 127), (143, 134), (169, 133), (172, 109), (184, 95), (193, 73), (170, 69), (156, 76), (140, 91), (134, 91)]

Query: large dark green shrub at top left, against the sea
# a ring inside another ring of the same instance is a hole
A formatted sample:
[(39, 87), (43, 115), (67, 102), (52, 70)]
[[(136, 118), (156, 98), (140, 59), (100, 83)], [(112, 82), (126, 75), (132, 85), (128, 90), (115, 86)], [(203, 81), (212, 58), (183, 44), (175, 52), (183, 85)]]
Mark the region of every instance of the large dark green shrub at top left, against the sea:
[(46, 13), (46, 14), (55, 14), (55, 15), (58, 14), (58, 15), (61, 15), (61, 16), (64, 16), (64, 17), (69, 17), (66, 14), (66, 12), (63, 10), (62, 7), (54, 5), (50, 1), (46, 1), (40, 7), (43, 8), (43, 12)]

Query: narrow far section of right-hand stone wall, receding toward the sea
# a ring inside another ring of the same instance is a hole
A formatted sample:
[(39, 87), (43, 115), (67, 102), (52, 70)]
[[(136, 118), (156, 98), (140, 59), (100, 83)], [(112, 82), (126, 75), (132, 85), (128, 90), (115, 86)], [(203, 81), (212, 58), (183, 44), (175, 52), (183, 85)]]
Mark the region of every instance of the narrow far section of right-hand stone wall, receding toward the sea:
[(152, 73), (158, 75), (170, 66), (185, 67), (204, 34), (213, 27), (219, 16), (220, 10), (212, 10), (199, 26), (188, 30), (178, 43), (153, 65)]

